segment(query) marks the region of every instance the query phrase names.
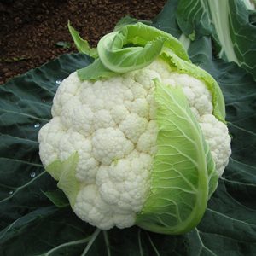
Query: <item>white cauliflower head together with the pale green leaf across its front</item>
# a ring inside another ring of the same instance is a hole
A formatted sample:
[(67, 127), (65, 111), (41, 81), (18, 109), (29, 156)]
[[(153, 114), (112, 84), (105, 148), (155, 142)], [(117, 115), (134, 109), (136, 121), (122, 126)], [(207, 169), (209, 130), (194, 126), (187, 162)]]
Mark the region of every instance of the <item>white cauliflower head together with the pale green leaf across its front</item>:
[(144, 66), (64, 79), (39, 131), (39, 154), (84, 221), (179, 234), (200, 221), (228, 164), (223, 99), (206, 73), (181, 72), (161, 55)]

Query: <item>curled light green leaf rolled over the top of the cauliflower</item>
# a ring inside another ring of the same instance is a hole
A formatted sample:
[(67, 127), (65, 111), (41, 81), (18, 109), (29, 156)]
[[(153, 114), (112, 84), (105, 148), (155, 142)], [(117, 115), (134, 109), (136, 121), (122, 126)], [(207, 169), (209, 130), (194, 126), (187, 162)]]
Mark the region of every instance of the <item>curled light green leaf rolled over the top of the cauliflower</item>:
[(97, 50), (105, 68), (114, 73), (126, 73), (148, 66), (160, 55), (164, 46), (189, 61), (176, 38), (141, 22), (108, 33), (99, 41)]

